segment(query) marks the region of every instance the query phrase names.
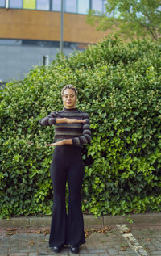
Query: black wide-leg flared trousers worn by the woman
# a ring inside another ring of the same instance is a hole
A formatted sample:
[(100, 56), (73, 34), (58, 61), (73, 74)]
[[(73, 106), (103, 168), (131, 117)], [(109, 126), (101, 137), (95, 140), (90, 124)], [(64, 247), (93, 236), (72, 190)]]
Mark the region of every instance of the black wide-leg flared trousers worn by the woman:
[[(49, 246), (81, 245), (85, 243), (84, 220), (81, 210), (81, 187), (84, 177), (81, 148), (56, 146), (50, 174), (54, 192)], [(68, 182), (68, 213), (65, 187)]]

